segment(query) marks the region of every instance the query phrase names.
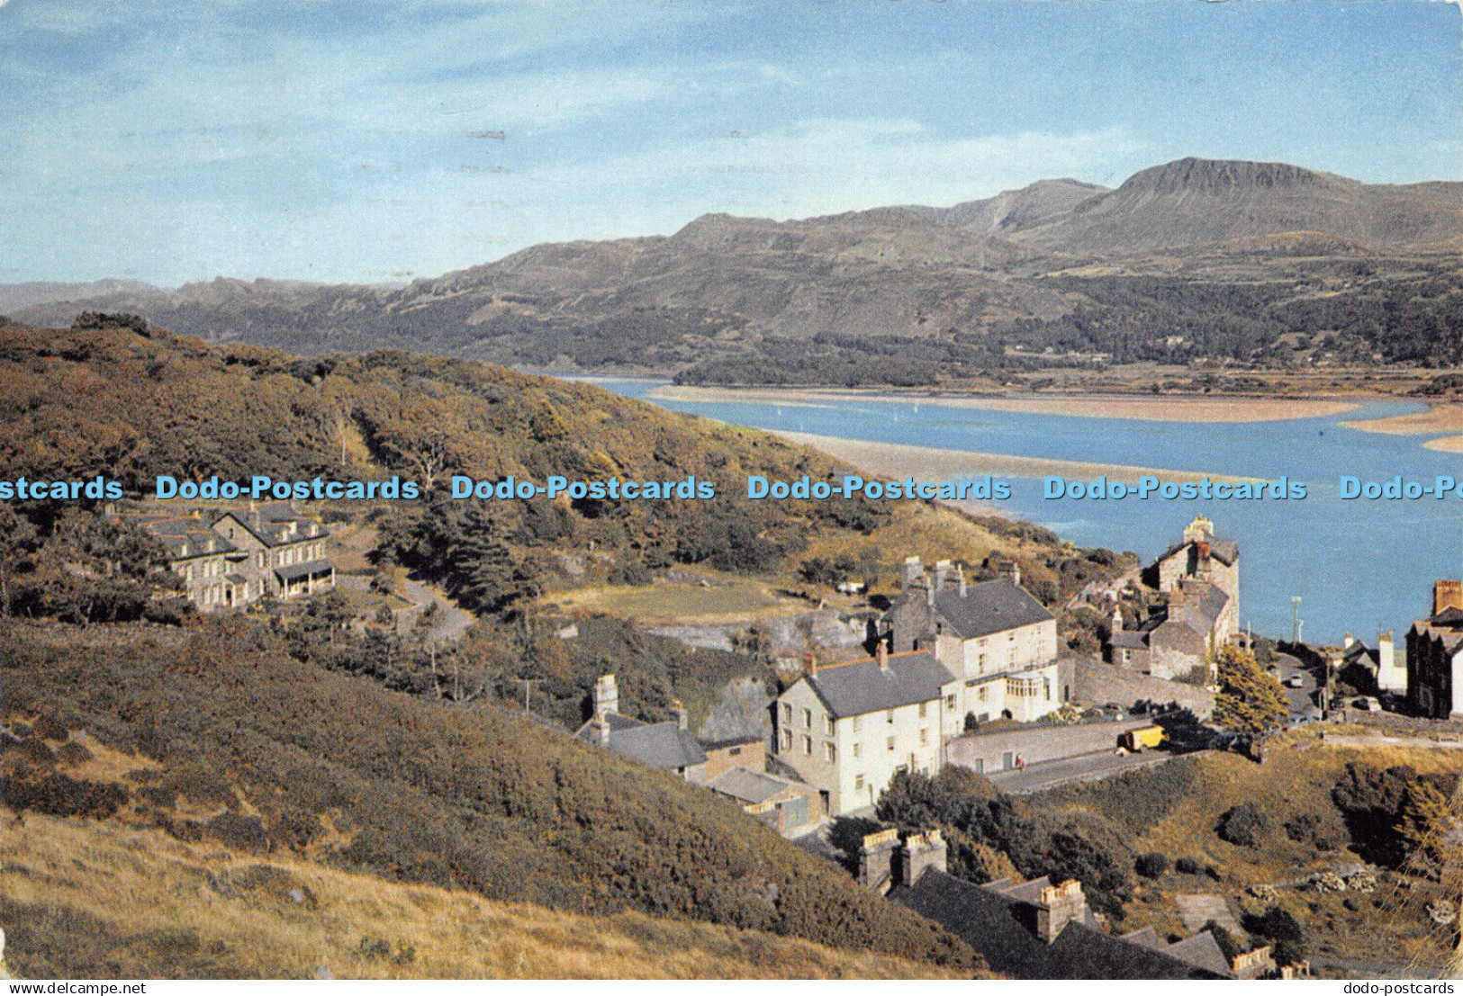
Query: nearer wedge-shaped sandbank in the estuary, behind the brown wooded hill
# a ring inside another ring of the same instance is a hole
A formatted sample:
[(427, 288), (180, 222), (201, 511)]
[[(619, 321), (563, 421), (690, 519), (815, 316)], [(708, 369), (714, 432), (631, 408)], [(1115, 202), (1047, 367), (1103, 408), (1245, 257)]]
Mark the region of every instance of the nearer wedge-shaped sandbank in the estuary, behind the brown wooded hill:
[(812, 433), (772, 433), (790, 443), (812, 446), (834, 459), (875, 474), (881, 478), (903, 480), (949, 480), (977, 477), (983, 474), (1009, 474), (1011, 477), (1067, 477), (1091, 480), (1106, 474), (1109, 480), (1135, 483), (1140, 477), (1156, 477), (1160, 481), (1197, 481), (1207, 477), (1211, 481), (1254, 481), (1254, 477), (1229, 477), (1204, 474), (1203, 471), (1172, 471), (1154, 467), (1129, 467), (1125, 464), (1088, 464), (1069, 459), (1045, 459), (1039, 456), (1007, 456), (1002, 453), (976, 453), (933, 446), (906, 446), (903, 443), (869, 443), (862, 439), (838, 439)]

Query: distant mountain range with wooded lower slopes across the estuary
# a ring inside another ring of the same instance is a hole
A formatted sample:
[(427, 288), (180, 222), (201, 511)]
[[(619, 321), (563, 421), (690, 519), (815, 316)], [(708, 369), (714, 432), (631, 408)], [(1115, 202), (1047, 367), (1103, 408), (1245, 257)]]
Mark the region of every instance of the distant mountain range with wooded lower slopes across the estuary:
[(1188, 158), (1112, 190), (1045, 180), (952, 208), (712, 214), (404, 288), (219, 278), (47, 295), (13, 316), (64, 326), (124, 310), (304, 354), (410, 348), (708, 383), (996, 389), (1107, 363), (1437, 366), (1463, 363), (1460, 238), (1459, 183)]

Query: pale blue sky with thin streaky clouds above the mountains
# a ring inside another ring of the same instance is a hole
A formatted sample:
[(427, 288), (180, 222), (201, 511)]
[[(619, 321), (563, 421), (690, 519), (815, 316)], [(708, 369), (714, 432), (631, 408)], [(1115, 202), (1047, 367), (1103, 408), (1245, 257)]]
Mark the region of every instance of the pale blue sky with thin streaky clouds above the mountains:
[(405, 281), (1185, 155), (1463, 178), (1441, 0), (0, 0), (0, 282)]

